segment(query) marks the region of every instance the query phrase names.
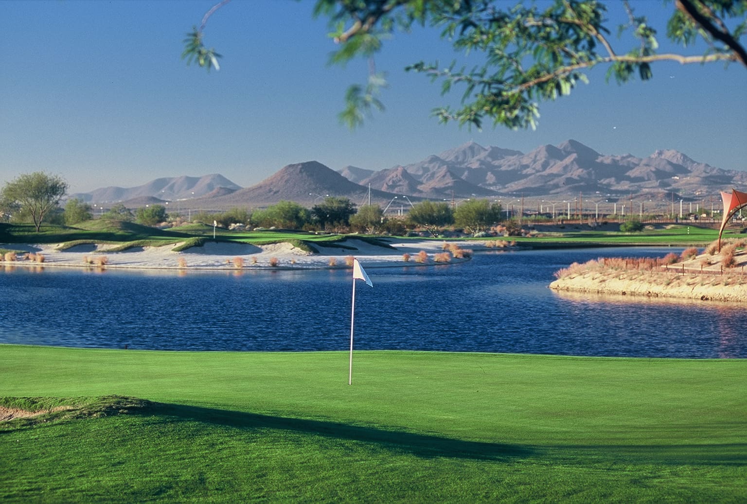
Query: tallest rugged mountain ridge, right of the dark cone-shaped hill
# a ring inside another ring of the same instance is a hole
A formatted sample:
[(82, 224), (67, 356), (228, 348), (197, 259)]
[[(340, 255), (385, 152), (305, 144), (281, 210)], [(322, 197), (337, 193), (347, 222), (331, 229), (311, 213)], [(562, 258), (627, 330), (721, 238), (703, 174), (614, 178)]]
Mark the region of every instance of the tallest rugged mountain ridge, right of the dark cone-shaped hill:
[[(527, 154), (468, 142), (418, 163), (366, 173), (365, 178), (346, 173), (359, 184), (427, 198), (451, 190), (457, 197), (630, 192), (694, 197), (747, 184), (747, 172), (711, 167), (678, 151), (657, 150), (648, 158), (602, 155), (577, 140), (539, 146)], [(408, 183), (399, 188), (391, 183), (393, 176)]]

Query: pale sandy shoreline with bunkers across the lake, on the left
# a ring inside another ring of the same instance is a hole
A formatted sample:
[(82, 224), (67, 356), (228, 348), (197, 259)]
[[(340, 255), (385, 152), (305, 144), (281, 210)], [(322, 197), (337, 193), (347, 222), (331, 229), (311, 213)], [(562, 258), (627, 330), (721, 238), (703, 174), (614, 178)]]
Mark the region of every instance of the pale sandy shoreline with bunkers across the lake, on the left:
[[(382, 240), (384, 241), (384, 240)], [(59, 243), (25, 244), (0, 243), (1, 249), (19, 250), (41, 254), (43, 263), (23, 260), (19, 255), (17, 261), (0, 261), (6, 266), (29, 267), (98, 267), (96, 261), (106, 258), (106, 268), (138, 268), (158, 270), (235, 270), (235, 258), (244, 262), (242, 269), (330, 269), (347, 267), (348, 256), (361, 261), (364, 267), (406, 267), (444, 264), (434, 261), (435, 255), (444, 252), (444, 242), (440, 240), (397, 241), (387, 240), (388, 249), (371, 245), (364, 240), (349, 239), (344, 243), (329, 246), (314, 243), (319, 253), (306, 252), (291, 243), (273, 243), (256, 246), (249, 243), (208, 242), (203, 246), (191, 247), (182, 252), (173, 249), (179, 242), (164, 246), (134, 247), (122, 252), (108, 252), (113, 244), (87, 244), (58, 250)], [(484, 242), (459, 242), (462, 249), (484, 250)], [(419, 252), (427, 253), (428, 258), (422, 263), (415, 261)], [(409, 254), (409, 261), (403, 256)], [(449, 264), (468, 261), (468, 258), (450, 257)], [(276, 263), (276, 266), (272, 266)]]

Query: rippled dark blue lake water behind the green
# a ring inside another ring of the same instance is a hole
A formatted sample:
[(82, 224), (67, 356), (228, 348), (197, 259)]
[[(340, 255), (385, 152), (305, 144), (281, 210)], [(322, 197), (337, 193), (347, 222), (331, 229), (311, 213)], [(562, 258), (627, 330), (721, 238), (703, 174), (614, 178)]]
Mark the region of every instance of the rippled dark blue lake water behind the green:
[[(439, 267), (367, 266), (356, 349), (747, 358), (747, 307), (563, 296), (553, 273), (681, 249), (481, 252)], [(0, 343), (167, 350), (344, 350), (350, 270), (185, 273), (0, 267)]]

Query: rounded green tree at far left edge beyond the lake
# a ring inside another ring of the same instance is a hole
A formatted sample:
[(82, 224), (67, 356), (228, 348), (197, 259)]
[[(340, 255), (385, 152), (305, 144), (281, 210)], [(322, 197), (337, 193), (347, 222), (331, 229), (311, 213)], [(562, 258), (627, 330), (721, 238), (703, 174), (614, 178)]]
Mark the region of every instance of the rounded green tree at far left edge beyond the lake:
[(19, 175), (8, 182), (0, 193), (0, 200), (17, 205), (20, 211), (31, 215), (37, 233), (46, 215), (54, 210), (67, 193), (67, 182), (57, 175), (44, 172)]

